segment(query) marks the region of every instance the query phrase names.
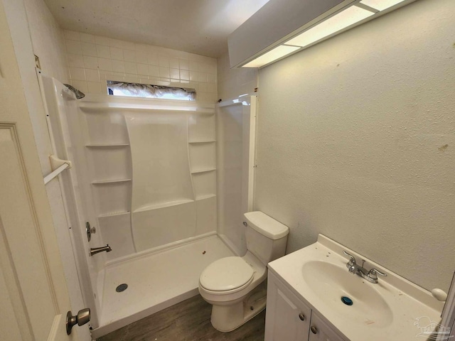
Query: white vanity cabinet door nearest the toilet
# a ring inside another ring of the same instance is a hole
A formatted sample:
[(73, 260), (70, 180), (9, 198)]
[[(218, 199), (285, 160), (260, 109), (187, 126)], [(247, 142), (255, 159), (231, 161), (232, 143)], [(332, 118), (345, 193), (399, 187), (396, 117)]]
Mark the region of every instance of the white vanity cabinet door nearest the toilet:
[(269, 273), (265, 341), (306, 341), (311, 309)]

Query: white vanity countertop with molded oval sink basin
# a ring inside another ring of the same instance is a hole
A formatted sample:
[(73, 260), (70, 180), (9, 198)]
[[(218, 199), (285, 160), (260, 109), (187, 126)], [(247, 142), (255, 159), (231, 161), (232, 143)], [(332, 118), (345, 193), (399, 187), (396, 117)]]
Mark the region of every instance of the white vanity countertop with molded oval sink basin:
[[(346, 266), (350, 255), (364, 264)], [(322, 234), (316, 243), (270, 262), (268, 268), (346, 340), (424, 340), (418, 321), (441, 320), (444, 303), (429, 291)], [(373, 271), (370, 278), (371, 269), (387, 276), (376, 279)]]

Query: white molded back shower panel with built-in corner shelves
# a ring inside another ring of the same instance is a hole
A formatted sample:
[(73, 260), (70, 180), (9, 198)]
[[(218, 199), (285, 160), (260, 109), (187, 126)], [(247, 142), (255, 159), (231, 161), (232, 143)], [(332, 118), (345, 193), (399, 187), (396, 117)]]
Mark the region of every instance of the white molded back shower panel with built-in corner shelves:
[(80, 104), (92, 207), (107, 260), (216, 233), (215, 108)]

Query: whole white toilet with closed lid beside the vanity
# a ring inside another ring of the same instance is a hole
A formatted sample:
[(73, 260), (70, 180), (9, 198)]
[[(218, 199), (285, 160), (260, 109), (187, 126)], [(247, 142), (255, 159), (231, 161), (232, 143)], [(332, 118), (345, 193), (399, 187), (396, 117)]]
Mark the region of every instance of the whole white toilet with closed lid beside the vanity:
[(210, 322), (230, 332), (265, 308), (267, 264), (284, 256), (289, 228), (260, 211), (245, 213), (247, 254), (218, 259), (200, 274), (199, 293), (211, 305)]

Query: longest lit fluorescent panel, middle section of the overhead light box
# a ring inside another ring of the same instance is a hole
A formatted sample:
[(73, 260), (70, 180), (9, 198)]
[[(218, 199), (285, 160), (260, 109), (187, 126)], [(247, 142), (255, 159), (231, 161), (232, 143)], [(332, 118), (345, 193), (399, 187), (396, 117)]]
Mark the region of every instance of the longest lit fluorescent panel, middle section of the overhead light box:
[(331, 16), (331, 18), (328, 18), (326, 21), (316, 24), (316, 26), (310, 28), (304, 33), (299, 34), (299, 36), (288, 40), (286, 44), (305, 47), (306, 45), (310, 45), (317, 40), (341, 31), (343, 28), (346, 28), (353, 23), (357, 23), (358, 21), (368, 18), (368, 16), (373, 16), (373, 14), (375, 13), (367, 11), (366, 9), (361, 9), (357, 6), (350, 6), (348, 9), (341, 11), (335, 16)]

